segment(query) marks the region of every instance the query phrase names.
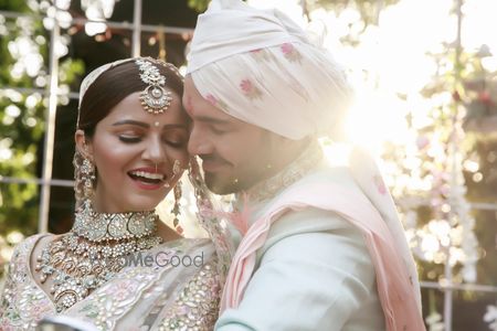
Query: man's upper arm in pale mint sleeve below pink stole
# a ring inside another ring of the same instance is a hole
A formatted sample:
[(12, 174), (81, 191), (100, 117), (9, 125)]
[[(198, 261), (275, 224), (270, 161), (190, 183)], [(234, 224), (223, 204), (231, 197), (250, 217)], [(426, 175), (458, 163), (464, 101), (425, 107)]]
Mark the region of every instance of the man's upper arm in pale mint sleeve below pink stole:
[[(273, 233), (240, 307), (224, 311), (215, 330), (341, 330), (377, 298), (374, 269), (359, 231), (335, 214), (320, 216), (305, 224), (295, 215), (277, 221), (286, 223), (289, 235)], [(306, 224), (331, 229), (305, 232)], [(289, 233), (292, 226), (300, 233)], [(376, 312), (368, 330), (384, 328), (381, 309)]]

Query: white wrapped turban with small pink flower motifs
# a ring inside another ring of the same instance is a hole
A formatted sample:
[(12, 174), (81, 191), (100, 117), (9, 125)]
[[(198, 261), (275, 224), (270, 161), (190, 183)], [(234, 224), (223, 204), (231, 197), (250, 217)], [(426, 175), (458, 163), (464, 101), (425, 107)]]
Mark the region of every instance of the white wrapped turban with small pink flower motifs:
[(350, 97), (342, 68), (295, 22), (241, 0), (213, 0), (199, 15), (188, 62), (205, 99), (289, 139), (329, 135)]

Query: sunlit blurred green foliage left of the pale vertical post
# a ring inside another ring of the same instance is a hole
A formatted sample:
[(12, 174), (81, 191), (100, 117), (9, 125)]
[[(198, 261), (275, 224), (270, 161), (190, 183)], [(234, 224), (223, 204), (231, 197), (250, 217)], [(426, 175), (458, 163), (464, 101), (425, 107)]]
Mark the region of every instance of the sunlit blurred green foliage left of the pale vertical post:
[[(33, 13), (21, 0), (0, 1), (0, 9)], [(20, 62), (20, 57), (27, 51), (46, 56), (46, 33), (41, 22), (29, 18), (12, 20), (0, 17), (0, 173), (2, 177), (32, 179), (36, 177), (36, 141), (43, 138), (43, 96), (39, 93), (21, 94), (7, 89), (7, 86), (36, 87), (34, 75), (27, 73), (25, 64), (29, 63)], [(36, 191), (35, 184), (0, 185), (1, 234), (12, 229), (34, 233)]]

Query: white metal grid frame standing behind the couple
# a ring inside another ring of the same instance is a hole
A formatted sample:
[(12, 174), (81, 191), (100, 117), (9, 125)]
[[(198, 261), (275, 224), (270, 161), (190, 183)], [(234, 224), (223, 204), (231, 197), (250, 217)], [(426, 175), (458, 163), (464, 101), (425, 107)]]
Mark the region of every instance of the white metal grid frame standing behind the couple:
[[(303, 8), (305, 9), (305, 1), (300, 1)], [(379, 3), (382, 3), (380, 1)], [(458, 39), (456, 41), (456, 47), (458, 47), (458, 52), (461, 52), (461, 6), (462, 0), (456, 0), (456, 4), (458, 4), (459, 12), (458, 14)], [(142, 0), (135, 0), (134, 2), (134, 15), (133, 22), (112, 22), (106, 21), (105, 24), (109, 28), (119, 28), (130, 30), (133, 32), (133, 42), (131, 42), (131, 55), (138, 56), (140, 54), (140, 36), (142, 32), (165, 32), (165, 33), (192, 33), (192, 29), (188, 28), (176, 28), (176, 26), (163, 26), (163, 25), (147, 25), (141, 23), (141, 12), (142, 10)], [(24, 13), (15, 13), (9, 11), (0, 11), (0, 15), (4, 18), (19, 18), (25, 17)], [(40, 17), (43, 19), (43, 17)], [(86, 19), (73, 19), (72, 24), (84, 24), (87, 22), (96, 22)], [(52, 179), (52, 159), (53, 159), (53, 148), (54, 148), (54, 132), (55, 132), (55, 116), (56, 116), (56, 107), (57, 107), (57, 87), (59, 87), (59, 58), (55, 55), (54, 45), (56, 44), (57, 39), (61, 38), (61, 28), (56, 19), (54, 19), (53, 29), (51, 31), (51, 47), (50, 47), (50, 85), (49, 89), (42, 88), (17, 88), (17, 87), (2, 87), (18, 90), (20, 93), (33, 93), (38, 92), (49, 96), (49, 107), (45, 114), (46, 121), (46, 131), (44, 139), (44, 156), (43, 156), (43, 171), (41, 179), (19, 179), (19, 178), (6, 178), (0, 177), (0, 183), (36, 183), (41, 185), (41, 199), (40, 199), (40, 213), (39, 213), (39, 232), (45, 233), (47, 231), (47, 221), (49, 221), (49, 203), (50, 203), (50, 192), (52, 186), (73, 186), (73, 181), (66, 180), (57, 180)], [(78, 94), (71, 92), (68, 97), (72, 99), (77, 99)], [(454, 146), (456, 148), (456, 146)], [(427, 202), (419, 201), (417, 204), (426, 204)], [(497, 204), (491, 203), (473, 203), (470, 204), (474, 210), (488, 210), (488, 211), (497, 211)], [(497, 286), (486, 286), (486, 285), (474, 285), (474, 284), (454, 284), (452, 281), (453, 270), (447, 263), (445, 264), (445, 284), (434, 282), (434, 281), (421, 281), (421, 286), (426, 289), (436, 289), (444, 292), (444, 330), (452, 330), (452, 316), (453, 316), (453, 292), (455, 290), (467, 290), (467, 291), (476, 291), (476, 292), (487, 292), (487, 293), (497, 293)]]

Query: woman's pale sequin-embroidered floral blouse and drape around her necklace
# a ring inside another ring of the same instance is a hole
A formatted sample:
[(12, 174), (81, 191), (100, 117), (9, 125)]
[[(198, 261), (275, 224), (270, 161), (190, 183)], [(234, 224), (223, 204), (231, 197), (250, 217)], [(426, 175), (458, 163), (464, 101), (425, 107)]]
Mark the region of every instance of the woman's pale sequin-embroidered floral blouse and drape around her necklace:
[[(33, 247), (44, 236), (29, 237), (14, 249), (0, 302), (2, 331), (34, 330), (41, 319), (57, 314), (30, 267)], [(61, 314), (96, 330), (213, 329), (220, 285), (211, 241), (182, 238), (135, 257), (134, 263)]]

